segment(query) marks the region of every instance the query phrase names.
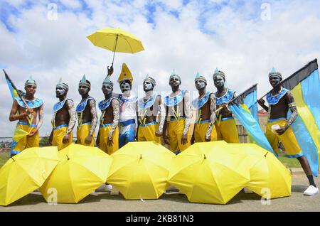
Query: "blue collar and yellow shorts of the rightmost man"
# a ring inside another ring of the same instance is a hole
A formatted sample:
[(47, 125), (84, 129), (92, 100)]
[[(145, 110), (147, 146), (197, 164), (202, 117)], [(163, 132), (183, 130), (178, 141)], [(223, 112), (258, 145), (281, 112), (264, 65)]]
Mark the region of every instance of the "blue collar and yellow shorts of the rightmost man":
[[(267, 102), (269, 103), (269, 110), (271, 109), (270, 105), (277, 104), (280, 99), (287, 94), (289, 90), (282, 88), (281, 92), (278, 95), (272, 96), (271, 93), (267, 94)], [(289, 158), (299, 158), (303, 156), (302, 149), (300, 148), (296, 136), (294, 136), (294, 132), (292, 128), (289, 127), (284, 134), (279, 135), (277, 133), (272, 132), (272, 125), (278, 124), (280, 127), (284, 127), (287, 124), (286, 118), (279, 118), (279, 119), (269, 119), (267, 122), (266, 133), (268, 141), (270, 142), (272, 149), (278, 154), (279, 148), (278, 144), (279, 141), (282, 142), (284, 149), (286, 150), (287, 157)]]

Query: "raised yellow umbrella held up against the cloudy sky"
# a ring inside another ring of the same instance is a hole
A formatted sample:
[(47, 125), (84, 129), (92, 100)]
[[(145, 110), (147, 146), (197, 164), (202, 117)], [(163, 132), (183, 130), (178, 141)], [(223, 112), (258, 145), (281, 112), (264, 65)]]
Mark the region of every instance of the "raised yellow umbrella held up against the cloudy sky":
[(87, 36), (87, 38), (93, 45), (114, 52), (111, 67), (113, 66), (114, 54), (116, 52), (137, 53), (144, 50), (142, 41), (139, 38), (120, 28), (102, 28)]

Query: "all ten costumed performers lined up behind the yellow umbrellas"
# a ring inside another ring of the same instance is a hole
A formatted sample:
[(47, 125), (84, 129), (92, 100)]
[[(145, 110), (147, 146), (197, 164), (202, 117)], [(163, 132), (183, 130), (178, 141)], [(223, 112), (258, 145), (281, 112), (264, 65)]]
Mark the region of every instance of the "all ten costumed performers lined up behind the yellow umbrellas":
[[(154, 92), (156, 80), (147, 75), (143, 82), (145, 96), (141, 99), (132, 94), (133, 77), (126, 64), (122, 65), (122, 72), (117, 80), (121, 94), (113, 92), (114, 84), (110, 80), (112, 73), (113, 68), (108, 68), (107, 77), (102, 82), (105, 99), (97, 104), (102, 113), (96, 144), (107, 154), (114, 153), (132, 141), (161, 143), (161, 136), (175, 154), (179, 154), (194, 142), (225, 140), (228, 143), (239, 143), (235, 119), (228, 108), (228, 103), (235, 97), (235, 91), (225, 86), (224, 72), (217, 69), (213, 74), (213, 82), (217, 89), (215, 93), (206, 90), (206, 77), (197, 74), (194, 82), (199, 96), (193, 101), (187, 90), (180, 89), (181, 77), (175, 72), (169, 77), (172, 92), (164, 98)], [(281, 80), (281, 73), (275, 70), (270, 72), (269, 81), (273, 90), (267, 95), (269, 106), (265, 105), (263, 99), (258, 101), (270, 114), (266, 136), (275, 152), (279, 152), (278, 143), (282, 141), (287, 154), (299, 160), (310, 185), (304, 193), (314, 195), (319, 189), (316, 188), (309, 163), (290, 128), (297, 118), (297, 107), (292, 93), (281, 86)], [(36, 88), (36, 81), (29, 78), (23, 96), (28, 109), (21, 99), (14, 100), (10, 121), (18, 120), (17, 128), (29, 134), (13, 143), (11, 156), (23, 149), (38, 146), (38, 129), (43, 122), (43, 101), (34, 96)], [(72, 143), (73, 127), (77, 121), (77, 144), (95, 145), (98, 116), (96, 101), (89, 95), (90, 89), (91, 84), (84, 75), (78, 88), (82, 99), (75, 107), (73, 100), (67, 97), (68, 85), (61, 79), (56, 85), (55, 93), (59, 102), (53, 106), (50, 144), (58, 146), (59, 150)], [(191, 109), (196, 109), (192, 135), (189, 133)], [(289, 109), (292, 114), (287, 119)], [(273, 124), (279, 125), (275, 133), (272, 132)]]

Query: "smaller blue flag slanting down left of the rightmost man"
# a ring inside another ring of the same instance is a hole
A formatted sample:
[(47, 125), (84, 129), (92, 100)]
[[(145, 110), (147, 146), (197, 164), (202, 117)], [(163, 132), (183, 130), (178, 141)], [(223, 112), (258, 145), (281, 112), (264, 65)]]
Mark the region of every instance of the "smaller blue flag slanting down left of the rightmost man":
[(243, 127), (247, 130), (250, 140), (277, 156), (262, 131), (257, 118), (257, 84), (242, 92), (232, 100), (229, 108)]

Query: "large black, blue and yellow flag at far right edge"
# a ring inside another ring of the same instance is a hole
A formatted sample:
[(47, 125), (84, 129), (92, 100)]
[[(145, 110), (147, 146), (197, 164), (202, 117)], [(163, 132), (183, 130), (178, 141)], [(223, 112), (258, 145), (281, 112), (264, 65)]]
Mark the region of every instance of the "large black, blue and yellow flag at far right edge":
[[(302, 153), (309, 161), (314, 176), (319, 174), (320, 155), (320, 79), (317, 60), (312, 60), (282, 81), (291, 90), (298, 109), (292, 124)], [(288, 117), (291, 112), (288, 112)]]

